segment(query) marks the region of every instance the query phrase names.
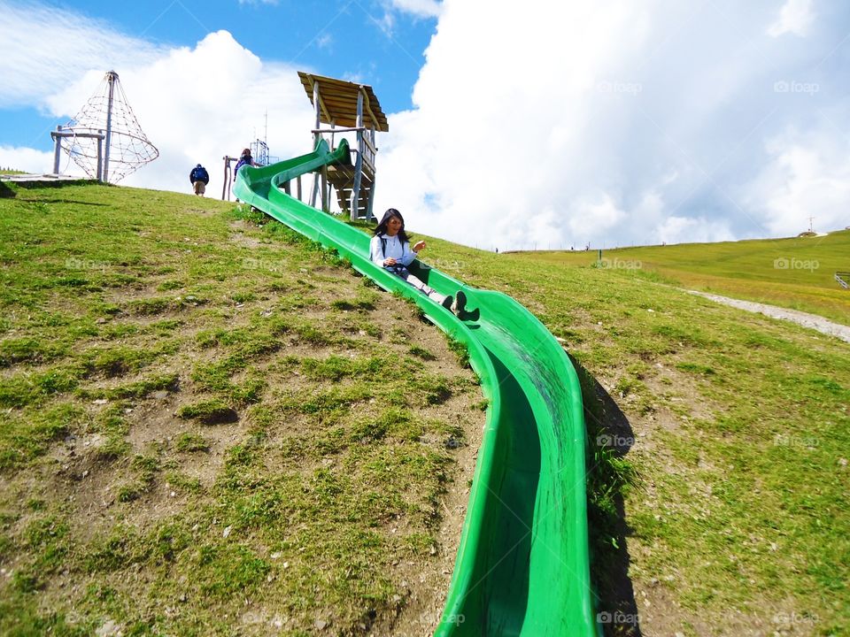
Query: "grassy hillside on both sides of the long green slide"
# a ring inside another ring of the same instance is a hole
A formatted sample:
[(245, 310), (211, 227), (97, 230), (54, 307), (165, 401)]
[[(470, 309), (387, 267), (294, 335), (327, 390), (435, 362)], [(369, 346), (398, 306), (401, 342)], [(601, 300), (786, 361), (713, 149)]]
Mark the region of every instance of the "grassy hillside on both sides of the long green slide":
[[(0, 195), (0, 633), (421, 633), (483, 424), (437, 330), (232, 204)], [(609, 634), (850, 632), (850, 344), (648, 265), (429, 243), (579, 368)]]

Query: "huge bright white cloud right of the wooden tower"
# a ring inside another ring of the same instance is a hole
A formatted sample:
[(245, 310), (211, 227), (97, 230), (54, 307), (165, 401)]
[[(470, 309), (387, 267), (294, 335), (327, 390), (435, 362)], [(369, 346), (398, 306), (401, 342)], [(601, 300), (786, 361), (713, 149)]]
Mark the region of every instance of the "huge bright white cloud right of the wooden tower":
[[(391, 115), (379, 140), (375, 205), (406, 212), (413, 229), (499, 249), (777, 232), (746, 196), (773, 161), (763, 140), (789, 122), (811, 126), (848, 81), (826, 59), (846, 35), (838, 22), (807, 48), (774, 49), (772, 13), (445, 0), (414, 109)], [(777, 92), (785, 76), (823, 89)]]

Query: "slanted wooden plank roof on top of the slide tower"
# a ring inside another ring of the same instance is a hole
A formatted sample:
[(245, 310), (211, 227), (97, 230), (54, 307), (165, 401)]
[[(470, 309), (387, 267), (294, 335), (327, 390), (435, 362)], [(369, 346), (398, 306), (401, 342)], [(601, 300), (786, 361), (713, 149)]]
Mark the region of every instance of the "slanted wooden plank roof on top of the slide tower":
[[(357, 94), (363, 90), (363, 126), (375, 128), (387, 133), (390, 130), (387, 116), (381, 110), (381, 103), (375, 96), (372, 87), (356, 82), (335, 80), (334, 78), (313, 75), (298, 71), (301, 84), (313, 104), (313, 85), (319, 83), (320, 120), (330, 124), (333, 120), (338, 127), (357, 126)], [(315, 108), (315, 104), (313, 104)]]

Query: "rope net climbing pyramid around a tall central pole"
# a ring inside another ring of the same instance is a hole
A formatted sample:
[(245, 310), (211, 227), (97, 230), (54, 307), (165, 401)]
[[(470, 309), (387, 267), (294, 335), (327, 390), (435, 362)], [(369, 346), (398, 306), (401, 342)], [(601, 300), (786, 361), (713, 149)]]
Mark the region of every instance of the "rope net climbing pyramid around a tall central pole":
[[(159, 151), (144, 134), (121, 88), (118, 73), (104, 76), (95, 94), (63, 129), (74, 134), (105, 135), (104, 181), (116, 183), (159, 157)], [(73, 136), (63, 150), (92, 179), (97, 179), (98, 140)]]

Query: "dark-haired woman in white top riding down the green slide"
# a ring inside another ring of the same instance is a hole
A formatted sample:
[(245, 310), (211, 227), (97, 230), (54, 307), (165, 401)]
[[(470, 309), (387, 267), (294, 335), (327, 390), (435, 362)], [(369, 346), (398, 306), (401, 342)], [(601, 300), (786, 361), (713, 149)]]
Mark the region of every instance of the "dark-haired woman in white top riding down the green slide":
[(460, 314), (467, 304), (467, 296), (463, 290), (458, 290), (455, 298), (451, 295), (441, 295), (407, 270), (407, 266), (413, 263), (413, 259), (423, 249), (425, 249), (423, 241), (416, 242), (413, 248), (410, 247), (410, 237), (405, 232), (405, 219), (401, 216), (401, 212), (390, 208), (383, 213), (381, 223), (375, 228), (375, 236), (372, 237), (369, 252), (373, 263), (381, 265), (399, 278), (406, 280), (413, 288), (424, 292), (447, 310)]

